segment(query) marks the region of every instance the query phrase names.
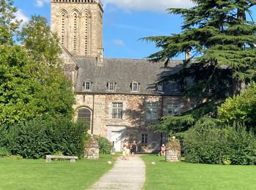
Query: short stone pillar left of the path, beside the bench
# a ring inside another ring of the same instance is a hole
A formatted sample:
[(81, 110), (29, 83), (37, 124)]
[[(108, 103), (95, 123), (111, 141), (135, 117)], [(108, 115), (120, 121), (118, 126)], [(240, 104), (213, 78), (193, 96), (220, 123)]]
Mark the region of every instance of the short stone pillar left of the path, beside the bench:
[(83, 157), (86, 159), (99, 159), (99, 143), (94, 137), (85, 142)]

